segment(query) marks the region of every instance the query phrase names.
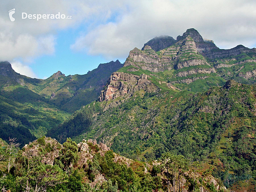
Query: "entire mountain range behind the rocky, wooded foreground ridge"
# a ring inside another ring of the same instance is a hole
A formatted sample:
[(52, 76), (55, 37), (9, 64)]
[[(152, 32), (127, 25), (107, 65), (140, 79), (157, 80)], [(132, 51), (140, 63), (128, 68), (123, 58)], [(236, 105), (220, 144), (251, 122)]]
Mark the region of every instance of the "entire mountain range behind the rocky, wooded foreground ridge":
[(124, 64), (85, 75), (31, 79), (1, 62), (1, 137), (95, 139), (144, 161), (165, 152), (211, 159), (228, 187), (256, 179), (255, 82), (255, 48), (219, 49), (195, 29), (153, 38)]

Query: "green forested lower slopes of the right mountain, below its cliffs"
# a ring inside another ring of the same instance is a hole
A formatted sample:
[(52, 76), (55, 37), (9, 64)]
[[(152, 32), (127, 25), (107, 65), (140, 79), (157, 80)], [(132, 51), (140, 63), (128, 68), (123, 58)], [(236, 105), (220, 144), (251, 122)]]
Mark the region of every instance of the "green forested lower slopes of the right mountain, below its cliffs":
[[(113, 151), (143, 161), (173, 152), (189, 161), (212, 160), (218, 170), (218, 163), (214, 162), (219, 160), (220, 169), (231, 175), (224, 176), (225, 172), (214, 169), (215, 177), (231, 186), (226, 183), (227, 177), (232, 177), (233, 183), (241, 178), (255, 179), (252, 156), (256, 154), (255, 95), (254, 85), (240, 85), (234, 81), (197, 94), (188, 91), (138, 92), (105, 111), (101, 108), (104, 103), (90, 104), (90, 108), (83, 108), (48, 135), (62, 142), (65, 137), (72, 137), (77, 142), (83, 138), (104, 140), (112, 144)], [(83, 115), (83, 119), (91, 119), (90, 124), (76, 125)], [(77, 134), (70, 136), (69, 131)]]

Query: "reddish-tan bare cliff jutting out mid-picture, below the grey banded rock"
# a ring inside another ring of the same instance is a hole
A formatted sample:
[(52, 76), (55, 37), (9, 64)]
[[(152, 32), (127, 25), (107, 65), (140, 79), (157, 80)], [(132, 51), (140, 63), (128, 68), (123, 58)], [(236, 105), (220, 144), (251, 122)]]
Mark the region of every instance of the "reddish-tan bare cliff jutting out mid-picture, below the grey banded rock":
[(128, 94), (131, 96), (135, 91), (143, 89), (149, 93), (157, 92), (158, 88), (148, 80), (148, 76), (140, 76), (123, 72), (115, 72), (108, 79), (107, 88), (102, 90), (99, 101), (109, 101), (119, 96)]

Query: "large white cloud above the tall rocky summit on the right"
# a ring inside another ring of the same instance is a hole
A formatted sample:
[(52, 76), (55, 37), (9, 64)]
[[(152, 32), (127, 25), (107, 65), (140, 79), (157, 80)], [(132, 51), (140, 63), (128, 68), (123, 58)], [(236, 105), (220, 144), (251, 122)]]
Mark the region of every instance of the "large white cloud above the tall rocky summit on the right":
[[(195, 28), (203, 38), (229, 49), (256, 44), (256, 2), (252, 0), (125, 1), (128, 9), (116, 22), (96, 26), (70, 46), (106, 58), (126, 57), (134, 47), (159, 35), (174, 38)], [(124, 3), (124, 5), (125, 5)]]

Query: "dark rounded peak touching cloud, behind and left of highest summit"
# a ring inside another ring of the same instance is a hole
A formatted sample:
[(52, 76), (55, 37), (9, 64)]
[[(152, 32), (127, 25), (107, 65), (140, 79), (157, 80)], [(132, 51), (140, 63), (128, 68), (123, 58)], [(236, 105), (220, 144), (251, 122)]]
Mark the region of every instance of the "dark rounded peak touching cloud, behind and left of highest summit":
[(175, 44), (177, 41), (168, 36), (168, 35), (161, 35), (160, 37), (155, 37), (144, 44), (141, 50), (145, 50), (147, 45), (150, 46), (155, 52), (170, 47), (171, 45)]

